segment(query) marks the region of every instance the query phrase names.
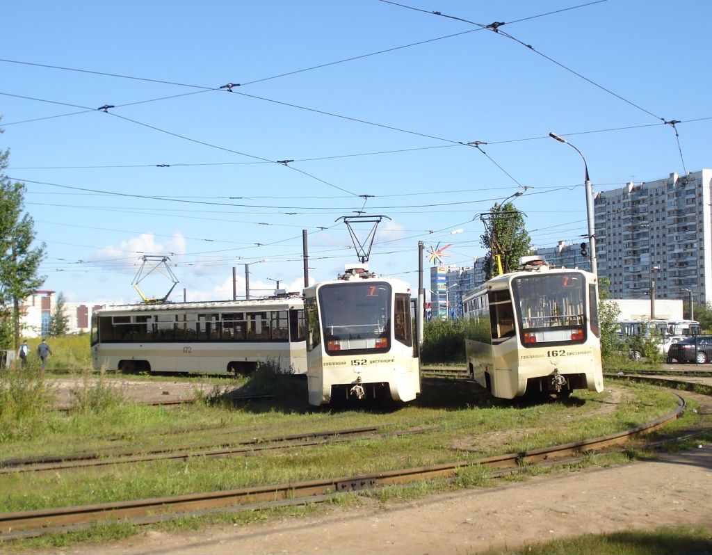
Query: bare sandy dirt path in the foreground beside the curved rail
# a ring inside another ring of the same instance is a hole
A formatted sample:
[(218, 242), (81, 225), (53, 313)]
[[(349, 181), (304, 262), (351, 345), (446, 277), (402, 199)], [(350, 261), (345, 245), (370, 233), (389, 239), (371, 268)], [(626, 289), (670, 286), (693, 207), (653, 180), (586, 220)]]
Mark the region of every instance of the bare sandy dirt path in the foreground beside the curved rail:
[[(712, 446), (415, 502), (332, 508), (248, 526), (148, 531), (66, 554), (464, 554), (561, 536), (712, 526)], [(56, 553), (56, 551), (55, 551)]]

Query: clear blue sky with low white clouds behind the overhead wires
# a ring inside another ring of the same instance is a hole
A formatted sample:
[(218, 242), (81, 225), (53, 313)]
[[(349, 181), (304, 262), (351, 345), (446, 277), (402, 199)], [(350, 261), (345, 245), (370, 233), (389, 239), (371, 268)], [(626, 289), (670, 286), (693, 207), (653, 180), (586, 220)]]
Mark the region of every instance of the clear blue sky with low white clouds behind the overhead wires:
[(478, 214), (518, 191), (535, 246), (580, 241), (582, 160), (551, 131), (594, 191), (710, 167), (711, 3), (402, 4), (6, 3), (0, 147), (44, 287), (139, 301), (150, 254), (175, 300), (231, 299), (234, 266), (244, 295), (243, 264), (252, 296), (298, 291), (302, 229), (310, 277), (333, 279), (355, 259), (336, 220), (363, 211), (390, 218), (371, 268), (415, 288), (418, 241), (471, 265)]

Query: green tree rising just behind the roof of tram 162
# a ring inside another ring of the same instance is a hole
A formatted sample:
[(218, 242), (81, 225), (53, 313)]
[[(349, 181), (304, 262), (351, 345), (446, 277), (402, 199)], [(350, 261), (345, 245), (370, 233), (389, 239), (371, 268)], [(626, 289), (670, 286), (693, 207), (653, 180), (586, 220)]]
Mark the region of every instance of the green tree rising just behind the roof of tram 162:
[(481, 245), (487, 249), (483, 259), (486, 279), (498, 275), (496, 255), (502, 258), (505, 272), (513, 271), (521, 256), (531, 252), (531, 238), (524, 227), (524, 215), (512, 202), (497, 204), (489, 212), (482, 214), (485, 232), (480, 238)]

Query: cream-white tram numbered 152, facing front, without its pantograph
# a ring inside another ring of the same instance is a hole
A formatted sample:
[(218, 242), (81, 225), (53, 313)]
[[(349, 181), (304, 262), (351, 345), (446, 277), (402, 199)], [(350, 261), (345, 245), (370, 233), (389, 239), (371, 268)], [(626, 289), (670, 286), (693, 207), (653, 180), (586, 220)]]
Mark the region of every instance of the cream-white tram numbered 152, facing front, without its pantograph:
[(305, 289), (304, 309), (311, 405), (420, 393), (407, 283), (347, 271)]

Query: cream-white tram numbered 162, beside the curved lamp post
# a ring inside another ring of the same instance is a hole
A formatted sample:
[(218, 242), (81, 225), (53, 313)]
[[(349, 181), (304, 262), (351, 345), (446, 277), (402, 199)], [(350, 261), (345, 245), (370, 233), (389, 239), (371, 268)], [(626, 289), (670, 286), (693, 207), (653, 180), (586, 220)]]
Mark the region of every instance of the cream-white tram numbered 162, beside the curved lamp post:
[(473, 378), (512, 399), (603, 390), (596, 277), (524, 257), (463, 298)]

